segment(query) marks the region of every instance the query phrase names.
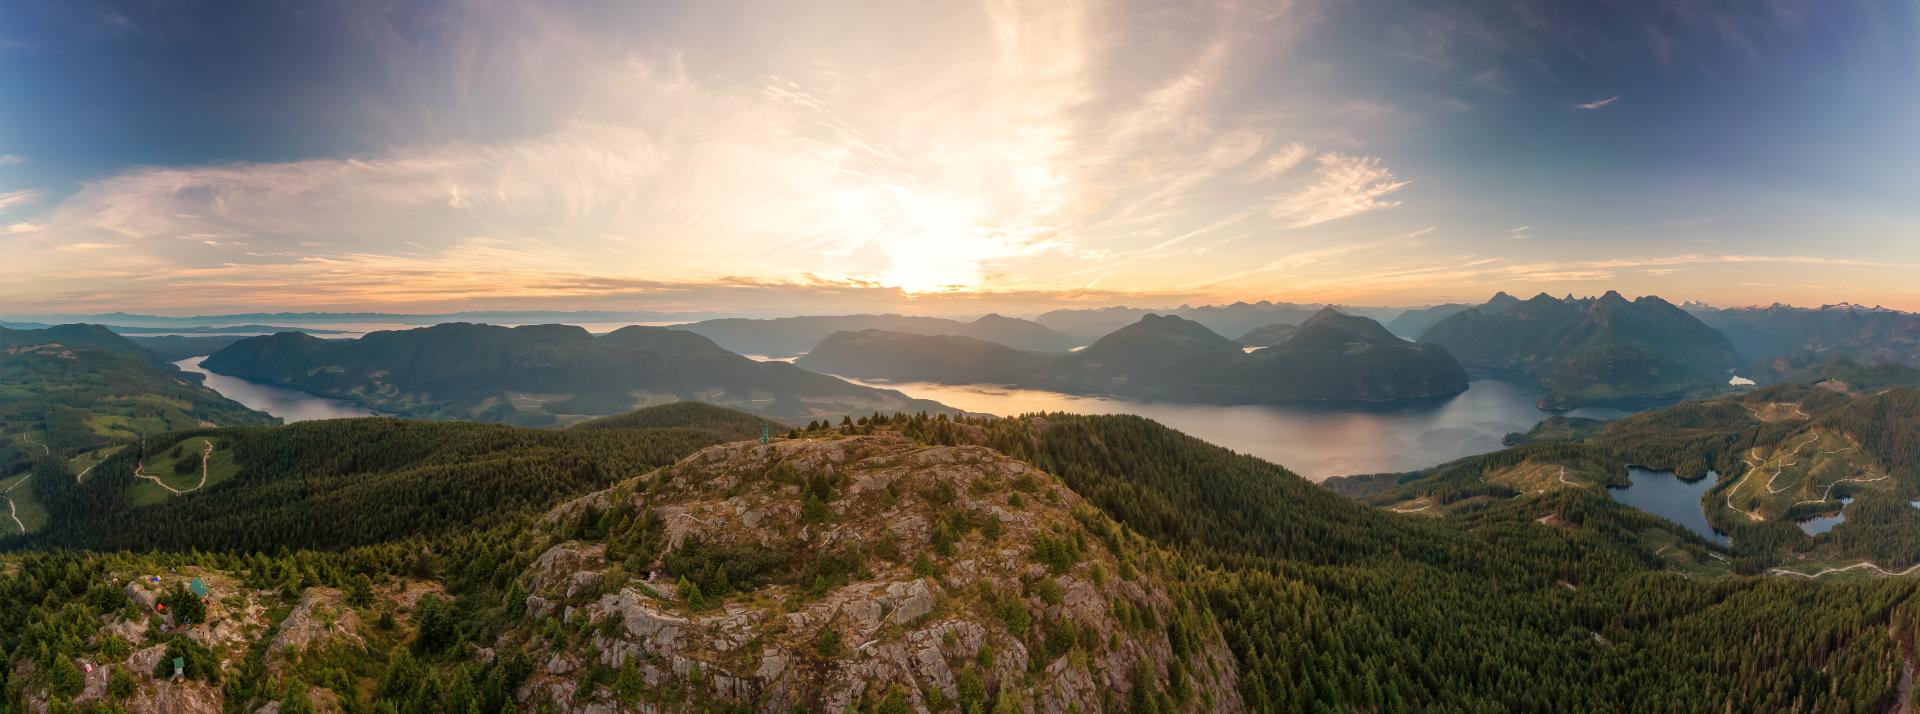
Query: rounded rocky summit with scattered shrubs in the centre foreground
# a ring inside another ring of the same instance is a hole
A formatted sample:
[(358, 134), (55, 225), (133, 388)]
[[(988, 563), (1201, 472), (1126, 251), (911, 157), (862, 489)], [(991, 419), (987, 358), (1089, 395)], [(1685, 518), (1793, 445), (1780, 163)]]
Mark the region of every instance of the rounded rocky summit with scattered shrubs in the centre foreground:
[[(1158, 555), (985, 447), (718, 445), (545, 522), (551, 545), (524, 574), (528, 618), (566, 618), (584, 635), (551, 645), (534, 622), (495, 643), (545, 662), (518, 693), (528, 708), (641, 706), (589, 678), (597, 664), (643, 681), (643, 710), (893, 699), (1092, 712), (1169, 678), (1204, 693), (1181, 708), (1240, 710), (1233, 656), (1162, 585)], [(1169, 631), (1185, 631), (1183, 654)]]

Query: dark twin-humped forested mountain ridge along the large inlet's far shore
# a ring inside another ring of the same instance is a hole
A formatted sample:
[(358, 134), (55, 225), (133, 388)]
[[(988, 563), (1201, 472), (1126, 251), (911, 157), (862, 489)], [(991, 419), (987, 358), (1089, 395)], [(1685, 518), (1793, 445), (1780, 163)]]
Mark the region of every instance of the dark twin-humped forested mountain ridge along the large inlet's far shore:
[(1200, 322), (1148, 315), (1064, 355), (964, 338), (843, 332), (799, 365), (856, 378), (1200, 403), (1394, 401), (1467, 388), (1467, 372), (1446, 349), (1407, 344), (1379, 322), (1334, 309), (1315, 313), (1284, 342), (1252, 353)]

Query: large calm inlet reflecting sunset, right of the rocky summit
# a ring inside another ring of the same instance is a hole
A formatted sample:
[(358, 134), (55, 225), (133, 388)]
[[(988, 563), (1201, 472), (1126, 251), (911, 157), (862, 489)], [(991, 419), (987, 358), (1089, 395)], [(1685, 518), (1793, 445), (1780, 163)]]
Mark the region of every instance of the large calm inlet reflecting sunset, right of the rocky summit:
[[(1507, 432), (1524, 432), (1548, 416), (1534, 409), (1534, 401), (1544, 395), (1542, 390), (1503, 380), (1475, 380), (1467, 392), (1452, 399), (1396, 407), (1219, 407), (991, 386), (852, 382), (1000, 416), (1035, 411), (1140, 415), (1200, 440), (1267, 459), (1309, 480), (1415, 470), (1494, 451)], [(1594, 409), (1572, 415), (1615, 418), (1624, 413)]]

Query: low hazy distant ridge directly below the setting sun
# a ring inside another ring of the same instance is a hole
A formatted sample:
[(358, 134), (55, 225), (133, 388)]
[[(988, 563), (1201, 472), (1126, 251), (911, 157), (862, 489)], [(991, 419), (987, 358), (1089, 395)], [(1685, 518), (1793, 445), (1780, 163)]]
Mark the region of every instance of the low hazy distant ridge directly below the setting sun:
[(1073, 338), (1039, 322), (1002, 315), (985, 315), (972, 322), (914, 315), (818, 315), (770, 321), (718, 319), (676, 324), (674, 330), (703, 334), (714, 344), (743, 355), (772, 357), (799, 355), (814, 349), (829, 334), (862, 330), (973, 338), (1033, 351), (1068, 351), (1079, 345)]

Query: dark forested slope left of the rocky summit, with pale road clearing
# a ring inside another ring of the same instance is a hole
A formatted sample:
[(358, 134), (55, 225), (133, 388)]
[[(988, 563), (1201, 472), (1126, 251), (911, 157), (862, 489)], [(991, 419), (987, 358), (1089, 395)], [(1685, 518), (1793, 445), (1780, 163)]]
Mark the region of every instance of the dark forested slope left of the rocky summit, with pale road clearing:
[(115, 451), (83, 482), (36, 480), (48, 526), (13, 545), (340, 549), (490, 528), (749, 430), (758, 440), (760, 424), (664, 405), (570, 430), (344, 418), (177, 432)]

